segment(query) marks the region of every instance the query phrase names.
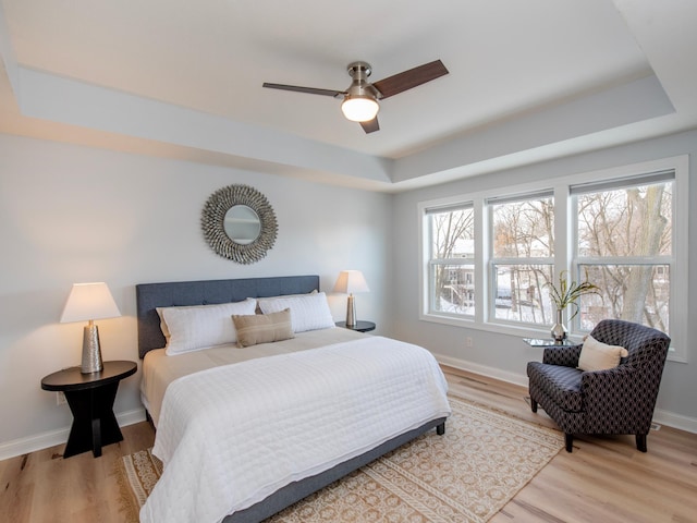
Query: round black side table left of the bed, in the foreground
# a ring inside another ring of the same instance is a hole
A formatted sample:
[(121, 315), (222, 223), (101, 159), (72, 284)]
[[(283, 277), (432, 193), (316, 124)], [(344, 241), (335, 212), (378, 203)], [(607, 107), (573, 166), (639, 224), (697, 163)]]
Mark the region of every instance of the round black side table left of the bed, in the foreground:
[(101, 455), (101, 447), (123, 440), (113, 401), (119, 381), (135, 374), (135, 362), (103, 362), (100, 373), (82, 374), (80, 367), (70, 367), (49, 374), (41, 379), (41, 389), (63, 392), (71, 412), (70, 429), (63, 458), (91, 450), (95, 458)]

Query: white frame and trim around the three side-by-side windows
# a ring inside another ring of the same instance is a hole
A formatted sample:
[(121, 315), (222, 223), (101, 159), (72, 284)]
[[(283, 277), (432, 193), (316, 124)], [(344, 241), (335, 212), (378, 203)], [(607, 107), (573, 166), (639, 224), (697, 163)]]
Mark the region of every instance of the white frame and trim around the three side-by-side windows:
[[(549, 337), (549, 329), (536, 328), (529, 324), (510, 325), (510, 323), (496, 321), (492, 318), (492, 247), (490, 239), (491, 212), (487, 202), (496, 198), (505, 198), (515, 194), (534, 194), (552, 191), (554, 198), (554, 273), (568, 270), (576, 275), (578, 263), (574, 258), (576, 241), (575, 216), (572, 216), (571, 187), (582, 183), (594, 183), (610, 179), (634, 179), (640, 181), (643, 175), (650, 172), (673, 170), (673, 224), (672, 224), (672, 260), (670, 282), (670, 336), (671, 350), (669, 360), (687, 362), (687, 332), (688, 332), (688, 251), (689, 251), (689, 157), (681, 155), (661, 158), (657, 160), (641, 161), (627, 166), (601, 169), (588, 172), (564, 174), (555, 179), (531, 181), (518, 185), (490, 188), (476, 193), (452, 195), (447, 198), (430, 199), (417, 203), (419, 222), (419, 250), (421, 263), (419, 264), (419, 319), (437, 324), (466, 327), (470, 329), (486, 330), (518, 337)], [(475, 315), (472, 317), (457, 317), (456, 315), (443, 315), (429, 312), (428, 301), (428, 253), (425, 244), (425, 212), (436, 207), (455, 206), (458, 203), (472, 203), (474, 209), (475, 227)], [(585, 259), (585, 258), (584, 258)], [(661, 257), (661, 263), (665, 259)], [(517, 260), (519, 262), (519, 260)], [(625, 260), (626, 262), (626, 260)], [(678, 284), (677, 282), (681, 282)], [(572, 333), (572, 339), (580, 342), (580, 333)]]

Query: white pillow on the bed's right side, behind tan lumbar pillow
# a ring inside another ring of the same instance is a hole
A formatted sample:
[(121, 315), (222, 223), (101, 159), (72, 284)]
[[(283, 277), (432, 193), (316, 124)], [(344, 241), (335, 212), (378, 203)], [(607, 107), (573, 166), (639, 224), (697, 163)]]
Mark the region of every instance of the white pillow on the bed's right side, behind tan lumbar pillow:
[(280, 313), (290, 308), (293, 332), (335, 327), (323, 292), (303, 296), (268, 297), (259, 300), (259, 307), (264, 314)]

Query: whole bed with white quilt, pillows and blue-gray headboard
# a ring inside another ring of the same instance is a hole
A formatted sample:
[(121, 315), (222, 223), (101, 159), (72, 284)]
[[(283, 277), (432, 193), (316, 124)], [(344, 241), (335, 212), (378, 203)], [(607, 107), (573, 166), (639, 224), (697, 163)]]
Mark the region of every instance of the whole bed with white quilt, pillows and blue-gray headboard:
[[(144, 523), (262, 521), (444, 433), (447, 384), (432, 355), (334, 327), (318, 276), (146, 283), (136, 300), (142, 398), (164, 463)], [(218, 343), (229, 333), (200, 318), (230, 307), (236, 338)]]

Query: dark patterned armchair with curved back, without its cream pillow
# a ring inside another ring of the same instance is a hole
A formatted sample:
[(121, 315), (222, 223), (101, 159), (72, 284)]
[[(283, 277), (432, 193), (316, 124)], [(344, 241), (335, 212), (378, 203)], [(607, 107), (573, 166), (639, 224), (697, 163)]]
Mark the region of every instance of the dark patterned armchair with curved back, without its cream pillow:
[(650, 327), (603, 319), (590, 332), (596, 340), (628, 351), (620, 365), (583, 372), (576, 366), (583, 345), (547, 348), (540, 362), (527, 364), (530, 408), (540, 404), (565, 434), (571, 452), (575, 434), (634, 434), (646, 452), (646, 437), (670, 338)]

